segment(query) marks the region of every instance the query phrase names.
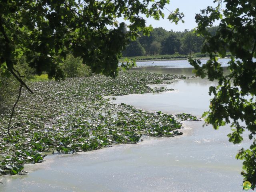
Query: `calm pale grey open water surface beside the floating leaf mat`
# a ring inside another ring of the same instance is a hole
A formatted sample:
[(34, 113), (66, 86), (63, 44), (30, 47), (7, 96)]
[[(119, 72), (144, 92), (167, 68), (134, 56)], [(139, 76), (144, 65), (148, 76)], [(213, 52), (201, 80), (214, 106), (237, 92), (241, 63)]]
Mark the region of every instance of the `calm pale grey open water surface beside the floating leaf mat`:
[[(191, 68), (141, 70), (192, 75)], [(175, 91), (117, 96), (113, 101), (146, 110), (201, 116), (209, 106), (208, 87), (215, 84), (200, 78), (179, 80), (162, 85)], [(138, 144), (49, 155), (42, 164), (26, 165), (29, 173), (25, 176), (0, 178), (4, 183), (0, 191), (241, 192), (242, 162), (235, 155), (240, 148), (248, 147), (248, 140), (233, 145), (226, 136), (230, 132), (228, 126), (213, 130), (202, 125), (202, 121), (184, 122), (184, 135), (174, 138), (147, 137)]]

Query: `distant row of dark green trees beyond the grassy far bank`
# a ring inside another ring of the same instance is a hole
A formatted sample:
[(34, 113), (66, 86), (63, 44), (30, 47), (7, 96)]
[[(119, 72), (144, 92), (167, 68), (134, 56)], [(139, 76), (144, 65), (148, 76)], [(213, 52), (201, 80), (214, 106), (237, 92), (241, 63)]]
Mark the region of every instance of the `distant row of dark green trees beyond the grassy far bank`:
[[(209, 28), (210, 33), (215, 34), (217, 27)], [(150, 36), (142, 33), (135, 41), (131, 41), (123, 52), (123, 56), (145, 56), (160, 54), (191, 55), (201, 52), (203, 45), (202, 36), (197, 36), (193, 30), (184, 32), (166, 31), (162, 27), (154, 28)]]

